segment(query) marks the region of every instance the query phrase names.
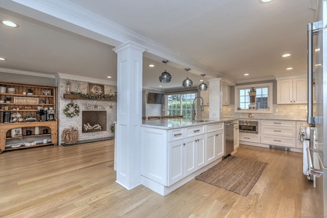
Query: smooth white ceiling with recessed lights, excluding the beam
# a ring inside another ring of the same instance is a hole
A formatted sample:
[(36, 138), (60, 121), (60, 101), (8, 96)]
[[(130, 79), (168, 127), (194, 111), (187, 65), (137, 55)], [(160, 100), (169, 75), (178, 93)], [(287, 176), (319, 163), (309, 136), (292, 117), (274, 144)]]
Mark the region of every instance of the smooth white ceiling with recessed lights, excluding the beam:
[[(22, 13), (26, 7), (3, 1), (0, 20), (15, 21), (19, 28), (0, 25), (0, 57), (7, 59), (0, 62), (0, 68), (99, 79), (111, 75), (111, 80), (116, 80), (116, 54), (111, 50), (116, 46), (114, 43), (108, 45), (105, 40), (100, 42), (85, 37), (87, 34), (81, 36), (64, 30), (68, 29), (64, 24), (56, 27), (47, 19), (30, 18), (33, 16)], [(315, 11), (310, 7), (314, 8), (312, 2), (315, 1), (274, 0), (266, 4), (259, 0), (49, 2), (62, 3), (63, 7), (69, 4), (76, 11), (86, 9), (94, 16), (111, 20), (166, 47), (184, 60), (178, 63), (175, 59), (165, 66), (161, 61), (169, 57), (145, 54), (143, 85), (146, 88), (158, 89), (159, 85), (162, 89), (181, 88), (186, 77), (184, 68), (191, 68), (189, 77), (194, 85), (200, 83), (199, 74), (208, 69), (206, 78), (222, 75), (235, 82), (307, 70), (306, 29), (307, 23), (314, 21)], [(284, 53), (292, 56), (282, 58)], [(149, 68), (150, 63), (155, 67)], [(294, 69), (287, 71), (288, 67)], [(172, 74), (172, 82), (160, 84), (158, 76), (165, 69)], [(246, 77), (244, 73), (250, 75)]]

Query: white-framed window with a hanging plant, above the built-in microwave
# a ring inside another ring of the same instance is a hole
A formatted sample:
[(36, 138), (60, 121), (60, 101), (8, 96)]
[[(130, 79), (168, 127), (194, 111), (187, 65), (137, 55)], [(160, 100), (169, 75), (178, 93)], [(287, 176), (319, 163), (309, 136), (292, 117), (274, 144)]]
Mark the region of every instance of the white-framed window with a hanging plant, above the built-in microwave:
[(235, 113), (272, 113), (272, 83), (236, 86)]

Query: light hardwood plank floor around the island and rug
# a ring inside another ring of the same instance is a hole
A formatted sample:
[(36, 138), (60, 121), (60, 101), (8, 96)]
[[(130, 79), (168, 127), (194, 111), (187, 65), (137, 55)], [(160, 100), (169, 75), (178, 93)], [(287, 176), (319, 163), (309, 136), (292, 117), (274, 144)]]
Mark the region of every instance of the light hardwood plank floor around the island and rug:
[(193, 179), (162, 197), (115, 183), (114, 141), (0, 154), (0, 217), (308, 217), (315, 189), (302, 154), (241, 145), (236, 156), (268, 162), (248, 196)]

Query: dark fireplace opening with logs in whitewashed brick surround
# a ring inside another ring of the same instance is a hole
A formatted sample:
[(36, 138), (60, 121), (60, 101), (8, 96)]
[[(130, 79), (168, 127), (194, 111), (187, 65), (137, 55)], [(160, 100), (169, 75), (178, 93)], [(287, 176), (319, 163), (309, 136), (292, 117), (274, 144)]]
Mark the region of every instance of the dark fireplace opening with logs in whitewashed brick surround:
[(82, 112), (82, 133), (106, 131), (106, 111), (83, 111)]

